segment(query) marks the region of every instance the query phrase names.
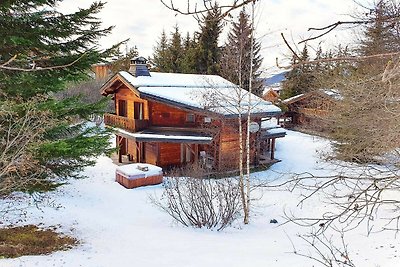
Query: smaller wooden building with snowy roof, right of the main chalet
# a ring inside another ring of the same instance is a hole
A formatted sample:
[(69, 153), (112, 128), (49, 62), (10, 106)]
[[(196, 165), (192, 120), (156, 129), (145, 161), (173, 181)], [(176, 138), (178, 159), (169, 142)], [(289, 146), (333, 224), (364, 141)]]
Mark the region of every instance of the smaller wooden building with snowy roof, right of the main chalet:
[(282, 101), (288, 108), (285, 126), (299, 126), (317, 131), (329, 128), (329, 114), (340, 94), (335, 90), (315, 90)]

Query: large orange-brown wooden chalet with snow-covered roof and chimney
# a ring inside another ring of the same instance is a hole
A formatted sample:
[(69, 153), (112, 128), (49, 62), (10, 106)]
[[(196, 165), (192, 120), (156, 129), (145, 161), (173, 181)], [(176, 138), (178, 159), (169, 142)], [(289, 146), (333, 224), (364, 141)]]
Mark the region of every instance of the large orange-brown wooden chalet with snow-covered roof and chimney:
[[(260, 129), (262, 119), (281, 114), (270, 102), (250, 95), (249, 105), (247, 91), (216, 75), (149, 72), (143, 57), (132, 59), (129, 72), (111, 77), (101, 93), (115, 103), (115, 114), (105, 114), (104, 121), (115, 129), (120, 162), (170, 167), (200, 161), (215, 170), (234, 168), (238, 117), (245, 118), (248, 108), (252, 164), (263, 159), (263, 151), (274, 150), (263, 144), (285, 136)], [(273, 159), (273, 153), (268, 156)]]

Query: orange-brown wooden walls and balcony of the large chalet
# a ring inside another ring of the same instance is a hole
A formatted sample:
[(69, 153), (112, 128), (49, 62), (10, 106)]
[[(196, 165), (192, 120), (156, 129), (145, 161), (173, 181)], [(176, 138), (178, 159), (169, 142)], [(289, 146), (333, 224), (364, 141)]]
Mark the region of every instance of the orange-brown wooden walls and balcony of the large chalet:
[[(118, 85), (119, 86), (119, 85)], [(182, 166), (200, 159), (207, 166), (217, 170), (237, 169), (239, 163), (239, 134), (237, 119), (222, 119), (214, 116), (212, 121), (205, 122), (208, 113), (192, 112), (169, 104), (141, 99), (134, 90), (122, 85), (114, 96), (117, 116), (106, 114), (105, 123), (109, 126), (137, 132), (151, 127), (169, 127), (169, 130), (208, 132), (213, 136), (210, 145), (137, 142), (135, 138), (124, 135), (119, 143), (120, 156), (129, 155), (133, 162), (146, 162), (161, 167)], [(120, 110), (121, 108), (121, 110)], [(122, 110), (123, 109), (123, 110)], [(126, 112), (125, 112), (126, 110)], [(259, 124), (260, 119), (256, 119)], [(185, 129), (183, 129), (185, 128)], [(159, 128), (160, 129), (160, 128)], [(243, 147), (246, 143), (246, 122), (243, 121)], [(257, 162), (258, 134), (251, 134), (251, 163)], [(121, 157), (120, 157), (121, 158)], [(244, 163), (246, 158), (244, 155)]]

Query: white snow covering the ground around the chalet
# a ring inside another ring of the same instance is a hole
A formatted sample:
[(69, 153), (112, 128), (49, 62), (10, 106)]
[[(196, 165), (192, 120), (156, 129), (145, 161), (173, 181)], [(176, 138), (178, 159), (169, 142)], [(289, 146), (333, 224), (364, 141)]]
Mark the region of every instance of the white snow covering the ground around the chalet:
[[(282, 162), (255, 176), (284, 180), (288, 175), (279, 173), (326, 173), (329, 166), (319, 161), (316, 151), (327, 148), (326, 140), (289, 131), (277, 142), (276, 157)], [(149, 200), (150, 195), (161, 194), (161, 186), (127, 190), (114, 182), (115, 168), (109, 158), (102, 157), (86, 170), (89, 178), (74, 180), (52, 193), (61, 208), (28, 210), (25, 224), (61, 225), (61, 231), (81, 240), (80, 245), (46, 256), (2, 259), (0, 266), (318, 266), (293, 253), (292, 243), (303, 253), (311, 250), (296, 237), (307, 229), (269, 221), (282, 222), (284, 210), (316, 213), (326, 208), (321, 202), (300, 208), (296, 206), (298, 193), (260, 190), (255, 194), (261, 198), (255, 202), (250, 225), (238, 222), (223, 232), (185, 228)], [(400, 245), (392, 233), (367, 236), (361, 228), (347, 237), (356, 266), (400, 265)]]

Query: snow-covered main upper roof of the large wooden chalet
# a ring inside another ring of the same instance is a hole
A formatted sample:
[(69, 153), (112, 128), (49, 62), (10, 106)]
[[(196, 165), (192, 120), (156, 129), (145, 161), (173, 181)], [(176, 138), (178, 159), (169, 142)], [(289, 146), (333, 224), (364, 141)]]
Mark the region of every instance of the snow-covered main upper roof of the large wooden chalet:
[[(119, 75), (144, 97), (225, 116), (245, 114), (249, 107), (249, 93), (217, 75), (150, 72), (151, 76), (135, 77), (125, 71)], [(281, 113), (279, 107), (254, 94), (250, 109), (252, 114), (263, 116)]]

